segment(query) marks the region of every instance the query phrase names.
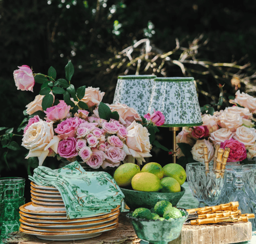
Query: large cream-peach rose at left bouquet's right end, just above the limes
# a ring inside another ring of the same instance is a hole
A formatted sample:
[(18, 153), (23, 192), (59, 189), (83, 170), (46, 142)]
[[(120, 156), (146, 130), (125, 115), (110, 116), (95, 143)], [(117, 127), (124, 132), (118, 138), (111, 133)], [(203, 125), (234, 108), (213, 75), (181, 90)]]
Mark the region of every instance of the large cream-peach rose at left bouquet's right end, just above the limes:
[(149, 136), (147, 128), (134, 121), (127, 127), (126, 141), (123, 144), (126, 155), (132, 155), (139, 163), (145, 162), (144, 158), (152, 156)]

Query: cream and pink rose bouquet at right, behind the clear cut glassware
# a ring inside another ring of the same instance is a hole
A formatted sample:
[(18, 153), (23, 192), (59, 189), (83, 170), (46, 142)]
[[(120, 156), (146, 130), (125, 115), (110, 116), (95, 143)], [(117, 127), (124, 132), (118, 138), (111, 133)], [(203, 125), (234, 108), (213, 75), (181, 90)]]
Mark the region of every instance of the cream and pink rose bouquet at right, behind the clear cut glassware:
[[(214, 146), (230, 148), (227, 162), (242, 161), (256, 157), (256, 129), (253, 114), (256, 113), (256, 98), (238, 91), (230, 99), (230, 107), (202, 115), (203, 124), (184, 127), (177, 135), (178, 158), (187, 162), (204, 162), (203, 146), (208, 148), (209, 161), (214, 157)], [(192, 161), (193, 160), (193, 161)]]

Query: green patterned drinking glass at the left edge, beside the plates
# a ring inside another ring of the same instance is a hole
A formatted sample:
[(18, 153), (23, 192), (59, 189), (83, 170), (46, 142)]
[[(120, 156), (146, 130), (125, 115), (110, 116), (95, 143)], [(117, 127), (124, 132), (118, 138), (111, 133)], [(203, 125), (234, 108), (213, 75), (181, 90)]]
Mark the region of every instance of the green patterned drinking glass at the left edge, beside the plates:
[(25, 179), (18, 177), (0, 178), (3, 185), (3, 224), (1, 238), (7, 238), (10, 232), (18, 231), (19, 207), (25, 204)]

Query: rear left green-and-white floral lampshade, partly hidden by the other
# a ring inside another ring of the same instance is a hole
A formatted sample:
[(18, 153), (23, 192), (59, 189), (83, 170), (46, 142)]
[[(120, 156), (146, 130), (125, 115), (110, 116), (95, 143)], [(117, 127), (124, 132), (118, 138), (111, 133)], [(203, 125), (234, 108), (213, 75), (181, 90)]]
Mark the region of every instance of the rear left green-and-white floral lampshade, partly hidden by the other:
[(133, 107), (140, 116), (147, 114), (155, 75), (118, 76), (114, 104)]

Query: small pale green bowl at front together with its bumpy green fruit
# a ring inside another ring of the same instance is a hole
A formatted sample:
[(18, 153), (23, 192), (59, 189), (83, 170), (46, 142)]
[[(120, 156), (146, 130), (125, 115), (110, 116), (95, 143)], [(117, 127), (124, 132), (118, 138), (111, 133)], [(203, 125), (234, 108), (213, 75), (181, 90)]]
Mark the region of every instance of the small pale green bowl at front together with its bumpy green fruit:
[(180, 236), (188, 212), (175, 208), (166, 201), (156, 203), (153, 209), (137, 208), (126, 214), (137, 236), (150, 243), (167, 244)]

